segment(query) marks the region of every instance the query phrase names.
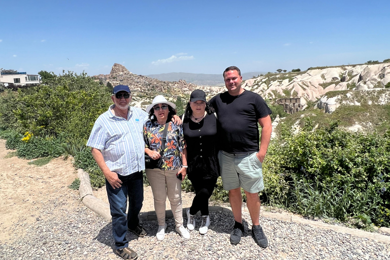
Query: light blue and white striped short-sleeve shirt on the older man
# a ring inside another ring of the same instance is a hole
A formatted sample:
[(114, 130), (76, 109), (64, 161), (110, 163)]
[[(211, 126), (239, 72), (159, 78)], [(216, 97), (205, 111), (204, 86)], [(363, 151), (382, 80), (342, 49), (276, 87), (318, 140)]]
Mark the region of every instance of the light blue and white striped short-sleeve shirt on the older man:
[(127, 120), (115, 116), (111, 109), (96, 119), (87, 146), (101, 150), (107, 167), (126, 176), (145, 170), (143, 125), (148, 114), (135, 107), (128, 108)]

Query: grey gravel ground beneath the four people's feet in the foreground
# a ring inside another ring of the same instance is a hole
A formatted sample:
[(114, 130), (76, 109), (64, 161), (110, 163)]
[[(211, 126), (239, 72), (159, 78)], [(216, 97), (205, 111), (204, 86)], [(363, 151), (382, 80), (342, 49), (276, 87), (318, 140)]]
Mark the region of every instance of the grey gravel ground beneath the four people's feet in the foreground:
[[(35, 223), (16, 223), (14, 229), (23, 234), (15, 233), (1, 242), (0, 259), (120, 259), (113, 252), (111, 222), (77, 202), (76, 192), (63, 194), (63, 197), (63, 201), (52, 200), (43, 205)], [(66, 205), (70, 199), (77, 202), (71, 208)], [(247, 213), (243, 214), (247, 232), (240, 244), (234, 246), (229, 241), (233, 215), (210, 212), (210, 217), (209, 232), (202, 236), (197, 226), (189, 241), (175, 232), (173, 219), (167, 219), (167, 234), (163, 241), (155, 238), (157, 222), (144, 221), (142, 224), (148, 235), (138, 238), (128, 234), (129, 246), (138, 252), (139, 259), (390, 260), (390, 244), (267, 218), (261, 218), (261, 222), (269, 246), (262, 249), (251, 236)]]

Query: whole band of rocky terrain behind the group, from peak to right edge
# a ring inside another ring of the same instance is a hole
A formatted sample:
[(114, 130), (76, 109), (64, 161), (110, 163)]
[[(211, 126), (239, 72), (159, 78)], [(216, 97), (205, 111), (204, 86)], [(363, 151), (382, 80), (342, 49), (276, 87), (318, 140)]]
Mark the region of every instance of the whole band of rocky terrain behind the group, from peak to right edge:
[[(225, 91), (224, 86), (200, 86), (187, 83), (161, 81), (129, 72), (115, 63), (108, 75), (96, 75), (96, 79), (113, 86), (125, 84), (133, 93), (133, 106), (146, 108), (153, 97), (166, 93), (170, 101), (180, 96), (184, 102), (194, 89), (202, 89), (210, 99)], [(223, 84), (223, 82), (221, 82)], [(300, 98), (303, 108), (308, 101), (318, 101), (317, 106), (332, 113), (342, 104), (387, 104), (390, 102), (390, 63), (359, 64), (352, 66), (312, 68), (304, 72), (268, 73), (244, 81), (243, 87), (276, 101), (280, 98)], [(336, 92), (337, 91), (337, 92)]]

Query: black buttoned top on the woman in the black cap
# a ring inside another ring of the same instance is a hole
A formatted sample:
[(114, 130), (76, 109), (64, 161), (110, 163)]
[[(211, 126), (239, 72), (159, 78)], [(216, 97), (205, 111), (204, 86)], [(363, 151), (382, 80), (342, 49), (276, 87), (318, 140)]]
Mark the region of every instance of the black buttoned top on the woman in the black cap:
[(217, 178), (217, 119), (214, 113), (206, 115), (199, 123), (183, 122), (183, 134), (187, 144), (188, 179)]

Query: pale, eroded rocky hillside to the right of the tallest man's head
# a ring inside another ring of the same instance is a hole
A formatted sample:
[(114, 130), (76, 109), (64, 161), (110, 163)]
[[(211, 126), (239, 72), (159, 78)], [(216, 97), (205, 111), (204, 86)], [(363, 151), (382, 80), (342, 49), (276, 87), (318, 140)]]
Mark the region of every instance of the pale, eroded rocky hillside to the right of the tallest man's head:
[(269, 73), (245, 81), (244, 87), (263, 98), (303, 98), (316, 101), (329, 91), (390, 87), (390, 63), (310, 69), (297, 73)]

